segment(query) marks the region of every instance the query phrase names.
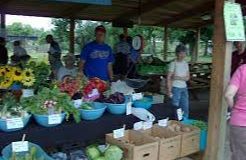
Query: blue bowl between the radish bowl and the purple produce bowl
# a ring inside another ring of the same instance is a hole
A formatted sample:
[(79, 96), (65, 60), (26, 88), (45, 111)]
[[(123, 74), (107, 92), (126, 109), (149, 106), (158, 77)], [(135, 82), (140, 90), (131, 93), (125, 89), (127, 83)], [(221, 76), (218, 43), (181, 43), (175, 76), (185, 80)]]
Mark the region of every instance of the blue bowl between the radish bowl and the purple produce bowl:
[(106, 110), (106, 105), (99, 102), (92, 103), (93, 110), (80, 109), (80, 117), (84, 120), (95, 120), (100, 118)]

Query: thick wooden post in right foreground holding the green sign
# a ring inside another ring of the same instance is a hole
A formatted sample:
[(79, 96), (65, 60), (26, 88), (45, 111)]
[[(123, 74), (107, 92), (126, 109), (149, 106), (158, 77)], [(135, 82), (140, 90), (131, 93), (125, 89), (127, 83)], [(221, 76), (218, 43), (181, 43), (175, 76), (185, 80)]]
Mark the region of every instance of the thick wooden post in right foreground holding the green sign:
[(224, 0), (215, 0), (213, 69), (210, 90), (207, 149), (204, 160), (225, 159), (226, 113), (224, 90), (230, 78), (232, 43), (226, 42)]

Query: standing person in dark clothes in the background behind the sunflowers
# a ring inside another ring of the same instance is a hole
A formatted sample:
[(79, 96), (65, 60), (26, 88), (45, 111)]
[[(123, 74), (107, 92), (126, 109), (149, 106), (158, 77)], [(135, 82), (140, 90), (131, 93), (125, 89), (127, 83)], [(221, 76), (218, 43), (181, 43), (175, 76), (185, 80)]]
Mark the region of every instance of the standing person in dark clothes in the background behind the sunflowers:
[(49, 54), (49, 63), (51, 66), (52, 76), (56, 77), (58, 69), (62, 66), (61, 62), (61, 49), (59, 44), (54, 40), (52, 35), (46, 36), (46, 42), (50, 44)]

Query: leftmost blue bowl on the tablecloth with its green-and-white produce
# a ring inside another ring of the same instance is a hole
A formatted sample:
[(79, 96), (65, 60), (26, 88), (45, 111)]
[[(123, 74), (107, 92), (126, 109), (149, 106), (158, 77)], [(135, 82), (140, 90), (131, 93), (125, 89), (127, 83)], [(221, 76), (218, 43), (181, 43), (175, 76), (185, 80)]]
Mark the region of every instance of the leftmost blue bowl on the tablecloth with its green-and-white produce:
[(31, 115), (11, 93), (6, 93), (0, 103), (0, 130), (17, 131), (24, 128)]

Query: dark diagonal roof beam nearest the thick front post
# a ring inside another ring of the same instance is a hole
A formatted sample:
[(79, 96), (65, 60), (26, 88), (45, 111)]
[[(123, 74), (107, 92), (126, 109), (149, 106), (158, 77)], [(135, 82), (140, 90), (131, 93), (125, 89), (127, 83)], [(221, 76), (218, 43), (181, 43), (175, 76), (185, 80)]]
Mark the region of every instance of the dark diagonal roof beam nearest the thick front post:
[(199, 6), (194, 6), (192, 9), (189, 9), (179, 14), (173, 15), (172, 18), (163, 19), (161, 22), (158, 22), (157, 25), (161, 25), (163, 23), (170, 25), (174, 22), (177, 22), (177, 21), (189, 18), (189, 17), (194, 17), (195, 15), (202, 15), (206, 12), (213, 10), (213, 8), (214, 8), (214, 1), (207, 1), (207, 2), (200, 4)]

